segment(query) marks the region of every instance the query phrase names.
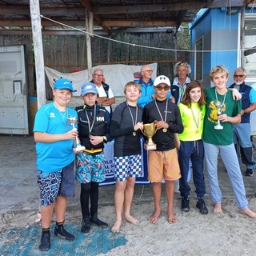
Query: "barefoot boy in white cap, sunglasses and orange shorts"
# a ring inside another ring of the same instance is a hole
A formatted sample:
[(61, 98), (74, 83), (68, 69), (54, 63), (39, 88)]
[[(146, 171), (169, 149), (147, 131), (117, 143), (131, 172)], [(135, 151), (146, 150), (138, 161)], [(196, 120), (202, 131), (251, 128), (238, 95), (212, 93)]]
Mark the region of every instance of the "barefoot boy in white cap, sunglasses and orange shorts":
[(154, 80), (156, 98), (144, 107), (142, 121), (151, 123), (155, 120), (157, 132), (153, 136), (156, 150), (148, 151), (148, 179), (153, 182), (154, 214), (149, 218), (150, 223), (156, 223), (161, 214), (162, 178), (166, 181), (168, 222), (177, 222), (174, 215), (174, 181), (181, 177), (178, 166), (178, 155), (175, 148), (174, 133), (183, 131), (182, 118), (173, 102), (167, 98), (170, 91), (170, 80), (164, 75)]

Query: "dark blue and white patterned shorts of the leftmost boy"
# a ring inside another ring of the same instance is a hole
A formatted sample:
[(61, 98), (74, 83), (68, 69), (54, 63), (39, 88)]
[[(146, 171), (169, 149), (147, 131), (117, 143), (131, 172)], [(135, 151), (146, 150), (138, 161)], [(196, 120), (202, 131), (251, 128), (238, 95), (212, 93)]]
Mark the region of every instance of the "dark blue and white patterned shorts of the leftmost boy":
[(42, 206), (50, 206), (58, 196), (74, 198), (74, 162), (54, 173), (38, 170)]

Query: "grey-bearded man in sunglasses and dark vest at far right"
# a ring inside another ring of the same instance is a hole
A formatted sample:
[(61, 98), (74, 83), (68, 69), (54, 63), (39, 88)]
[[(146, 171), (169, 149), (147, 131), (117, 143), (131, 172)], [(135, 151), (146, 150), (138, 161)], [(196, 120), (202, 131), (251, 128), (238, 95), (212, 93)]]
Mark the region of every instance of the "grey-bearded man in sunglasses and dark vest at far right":
[(234, 70), (234, 84), (230, 88), (237, 89), (242, 94), (241, 123), (233, 125), (234, 145), (238, 150), (240, 145), (241, 160), (246, 165), (246, 176), (253, 176), (256, 162), (253, 160), (253, 149), (250, 142), (250, 112), (256, 109), (256, 92), (246, 86), (246, 70), (238, 67)]

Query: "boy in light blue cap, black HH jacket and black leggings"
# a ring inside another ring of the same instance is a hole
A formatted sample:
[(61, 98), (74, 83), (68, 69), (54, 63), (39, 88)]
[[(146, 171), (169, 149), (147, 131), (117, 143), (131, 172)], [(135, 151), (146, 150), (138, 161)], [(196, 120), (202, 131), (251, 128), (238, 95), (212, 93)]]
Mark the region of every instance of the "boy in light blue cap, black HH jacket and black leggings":
[[(81, 183), (80, 203), (82, 210), (82, 233), (90, 232), (90, 222), (102, 228), (106, 222), (98, 218), (98, 183), (105, 180), (104, 143), (110, 138), (110, 113), (97, 105), (98, 90), (94, 83), (82, 85), (84, 105), (76, 107), (78, 112), (78, 136), (86, 149), (77, 155), (76, 178)], [(90, 198), (90, 210), (89, 210)]]

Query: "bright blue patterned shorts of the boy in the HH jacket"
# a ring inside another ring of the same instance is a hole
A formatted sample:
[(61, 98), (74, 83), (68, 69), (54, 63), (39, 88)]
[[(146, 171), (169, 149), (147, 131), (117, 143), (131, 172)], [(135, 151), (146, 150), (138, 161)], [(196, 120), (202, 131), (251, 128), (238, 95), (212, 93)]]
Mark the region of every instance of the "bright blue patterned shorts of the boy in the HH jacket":
[(75, 178), (80, 183), (103, 182), (105, 181), (105, 157), (103, 153), (77, 154)]

